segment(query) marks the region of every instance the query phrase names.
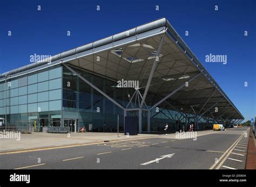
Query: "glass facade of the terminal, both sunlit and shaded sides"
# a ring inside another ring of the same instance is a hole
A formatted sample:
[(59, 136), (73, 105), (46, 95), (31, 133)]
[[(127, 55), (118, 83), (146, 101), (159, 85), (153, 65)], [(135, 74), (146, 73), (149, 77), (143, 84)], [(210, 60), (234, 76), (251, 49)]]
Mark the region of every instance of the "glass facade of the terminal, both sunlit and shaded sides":
[[(134, 89), (117, 88), (117, 82), (79, 69), (76, 71), (116, 102), (123, 106), (129, 103), (127, 93), (132, 95)], [(71, 125), (73, 129), (72, 125), (76, 124), (76, 131), (85, 127), (86, 131), (113, 132), (117, 131), (118, 115), (119, 130), (123, 131), (124, 111), (65, 67), (11, 78), (6, 85), (4, 81), (0, 82), (0, 117), (5, 118), (5, 110), (8, 124), (16, 127), (35, 126), (38, 127), (37, 131), (43, 131), (42, 126)], [(167, 109), (160, 111), (151, 112), (151, 131), (162, 131), (165, 123), (169, 123), (171, 131), (185, 125), (185, 119), (180, 118), (178, 112)], [(142, 128), (146, 131), (147, 112), (142, 114)], [(127, 116), (138, 116), (138, 112), (127, 111)], [(177, 117), (178, 123), (173, 117)], [(206, 124), (209, 124), (208, 121), (201, 118), (201, 128)]]

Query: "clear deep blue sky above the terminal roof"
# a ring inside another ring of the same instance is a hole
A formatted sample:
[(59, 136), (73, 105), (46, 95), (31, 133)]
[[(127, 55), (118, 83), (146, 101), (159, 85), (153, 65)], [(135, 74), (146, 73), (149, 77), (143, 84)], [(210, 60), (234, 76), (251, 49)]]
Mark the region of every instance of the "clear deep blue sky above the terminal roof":
[[(37, 5), (41, 5), (41, 11), (37, 11)], [(31, 54), (55, 55), (166, 17), (250, 120), (256, 116), (255, 9), (253, 0), (1, 1), (0, 73), (30, 63)], [(67, 31), (71, 31), (70, 37)], [(248, 31), (247, 37), (244, 31)], [(206, 63), (205, 55), (210, 53), (227, 55), (227, 64)]]

